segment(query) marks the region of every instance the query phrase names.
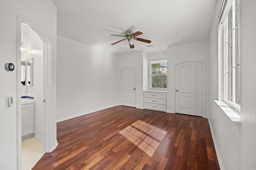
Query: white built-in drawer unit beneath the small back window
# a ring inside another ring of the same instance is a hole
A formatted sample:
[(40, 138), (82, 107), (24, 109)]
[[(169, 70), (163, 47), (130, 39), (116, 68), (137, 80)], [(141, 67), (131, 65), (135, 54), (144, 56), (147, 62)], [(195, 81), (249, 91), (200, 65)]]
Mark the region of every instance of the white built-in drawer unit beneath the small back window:
[(166, 91), (144, 91), (144, 108), (166, 111)]

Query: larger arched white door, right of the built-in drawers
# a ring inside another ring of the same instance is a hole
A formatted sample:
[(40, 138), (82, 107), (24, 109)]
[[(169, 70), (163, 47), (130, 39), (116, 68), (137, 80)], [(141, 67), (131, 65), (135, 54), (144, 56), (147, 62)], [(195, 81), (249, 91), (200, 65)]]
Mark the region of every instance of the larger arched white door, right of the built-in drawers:
[(176, 113), (203, 116), (203, 63), (184, 62), (175, 70)]

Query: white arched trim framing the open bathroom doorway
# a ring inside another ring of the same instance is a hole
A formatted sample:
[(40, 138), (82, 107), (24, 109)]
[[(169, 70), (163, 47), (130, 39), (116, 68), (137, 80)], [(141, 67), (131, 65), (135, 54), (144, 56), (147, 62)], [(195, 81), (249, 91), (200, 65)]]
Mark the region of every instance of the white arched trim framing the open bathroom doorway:
[[(21, 88), (18, 82), (20, 82), (21, 75), (18, 70), (21, 70), (21, 66), (18, 63), (21, 63), (21, 24), (26, 24), (29, 26), (43, 42), (43, 96), (46, 102), (44, 103), (43, 110), (43, 152), (52, 152), (54, 148), (58, 145), (56, 139), (56, 112), (54, 112), (54, 107), (51, 103), (54, 103), (53, 88), (53, 58), (51, 50), (51, 42), (40, 29), (40, 25), (31, 20), (30, 18), (24, 15), (17, 15), (17, 37), (16, 37), (16, 92), (17, 92), (17, 162), (18, 169), (21, 169)], [(56, 95), (56, 94), (55, 94)], [(38, 101), (40, 102), (40, 101)], [(43, 102), (43, 101), (42, 101)]]

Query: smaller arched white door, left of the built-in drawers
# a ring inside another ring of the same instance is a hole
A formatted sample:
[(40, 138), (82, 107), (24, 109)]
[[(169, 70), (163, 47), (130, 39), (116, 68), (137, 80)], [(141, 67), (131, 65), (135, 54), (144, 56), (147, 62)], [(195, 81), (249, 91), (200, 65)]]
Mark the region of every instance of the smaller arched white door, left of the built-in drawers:
[(120, 105), (136, 107), (136, 69), (125, 67), (121, 69)]

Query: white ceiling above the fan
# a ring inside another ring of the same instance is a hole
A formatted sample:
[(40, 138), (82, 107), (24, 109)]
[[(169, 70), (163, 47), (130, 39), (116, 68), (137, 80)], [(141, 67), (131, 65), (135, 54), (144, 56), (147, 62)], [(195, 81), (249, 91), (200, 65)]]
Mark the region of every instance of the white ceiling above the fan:
[[(113, 53), (166, 51), (168, 46), (208, 40), (216, 0), (52, 0), (57, 7), (57, 34)], [(143, 32), (130, 49), (127, 30)], [(154, 45), (154, 47), (146, 47)]]

